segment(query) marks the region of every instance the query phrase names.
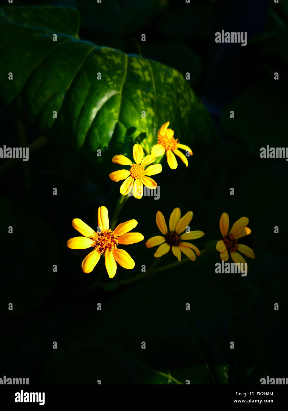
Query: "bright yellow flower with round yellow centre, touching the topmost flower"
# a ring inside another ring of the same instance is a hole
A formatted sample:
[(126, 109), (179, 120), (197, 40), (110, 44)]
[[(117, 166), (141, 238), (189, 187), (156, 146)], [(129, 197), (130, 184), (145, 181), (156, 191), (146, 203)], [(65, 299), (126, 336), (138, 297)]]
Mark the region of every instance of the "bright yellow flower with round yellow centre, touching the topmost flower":
[(120, 187), (120, 193), (125, 196), (133, 187), (133, 196), (136, 199), (141, 199), (143, 196), (143, 185), (150, 189), (157, 187), (157, 182), (147, 175), (154, 175), (161, 173), (161, 164), (153, 164), (152, 166), (145, 166), (155, 161), (156, 156), (149, 154), (143, 158), (143, 148), (140, 144), (134, 144), (133, 158), (136, 164), (132, 164), (131, 160), (122, 154), (115, 155), (112, 159), (113, 163), (122, 164), (124, 166), (131, 166), (130, 170), (118, 170), (109, 174), (113, 181), (124, 180)]

